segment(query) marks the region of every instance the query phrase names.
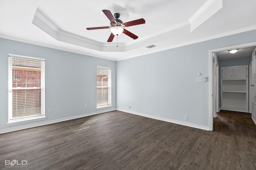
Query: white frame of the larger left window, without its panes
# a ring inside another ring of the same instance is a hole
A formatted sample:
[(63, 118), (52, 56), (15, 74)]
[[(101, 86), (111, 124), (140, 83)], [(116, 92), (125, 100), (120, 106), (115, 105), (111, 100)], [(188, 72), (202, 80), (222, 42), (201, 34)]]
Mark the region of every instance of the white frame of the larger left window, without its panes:
[[(30, 61), (41, 61), (41, 88), (13, 88), (12, 87), (12, 59), (25, 59)], [(12, 117), (12, 90), (13, 89), (41, 89), (41, 114), (30, 115), (24, 117)], [(7, 126), (18, 125), (21, 123), (29, 123), (33, 121), (40, 121), (46, 119), (45, 116), (45, 59), (26, 57), (20, 55), (8, 55), (8, 123)]]

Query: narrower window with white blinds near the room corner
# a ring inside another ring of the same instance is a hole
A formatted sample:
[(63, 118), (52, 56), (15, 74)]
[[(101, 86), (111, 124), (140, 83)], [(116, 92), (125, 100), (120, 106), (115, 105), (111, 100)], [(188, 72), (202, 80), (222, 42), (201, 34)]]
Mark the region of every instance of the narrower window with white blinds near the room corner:
[(97, 67), (97, 108), (111, 106), (111, 68)]

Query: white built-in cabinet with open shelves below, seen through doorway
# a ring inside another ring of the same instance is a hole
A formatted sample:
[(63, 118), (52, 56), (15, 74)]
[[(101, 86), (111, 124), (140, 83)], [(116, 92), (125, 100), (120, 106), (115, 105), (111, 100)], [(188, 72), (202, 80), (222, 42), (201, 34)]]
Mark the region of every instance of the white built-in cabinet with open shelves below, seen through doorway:
[(248, 112), (248, 66), (222, 67), (221, 75), (221, 109)]

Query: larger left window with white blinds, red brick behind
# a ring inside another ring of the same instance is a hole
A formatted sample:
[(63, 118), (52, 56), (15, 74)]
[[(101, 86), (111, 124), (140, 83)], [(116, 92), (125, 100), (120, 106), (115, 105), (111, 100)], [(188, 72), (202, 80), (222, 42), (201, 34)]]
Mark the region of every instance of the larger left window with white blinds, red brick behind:
[(8, 124), (46, 119), (44, 59), (9, 55)]

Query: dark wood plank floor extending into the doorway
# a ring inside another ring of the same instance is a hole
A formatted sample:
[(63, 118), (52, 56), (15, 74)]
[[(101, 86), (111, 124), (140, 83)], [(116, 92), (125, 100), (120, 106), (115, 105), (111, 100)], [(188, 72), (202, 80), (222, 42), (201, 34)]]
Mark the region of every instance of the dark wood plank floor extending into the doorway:
[(232, 111), (214, 131), (111, 111), (0, 135), (0, 169), (14, 159), (32, 170), (255, 170), (256, 125)]

